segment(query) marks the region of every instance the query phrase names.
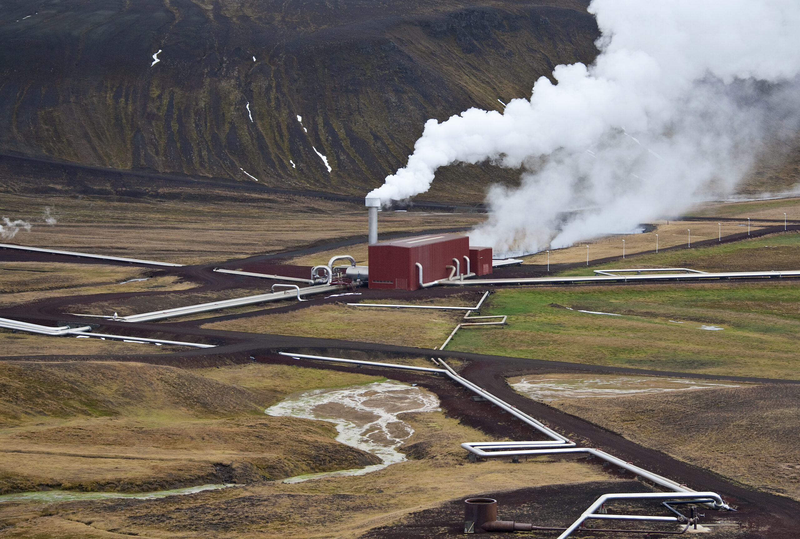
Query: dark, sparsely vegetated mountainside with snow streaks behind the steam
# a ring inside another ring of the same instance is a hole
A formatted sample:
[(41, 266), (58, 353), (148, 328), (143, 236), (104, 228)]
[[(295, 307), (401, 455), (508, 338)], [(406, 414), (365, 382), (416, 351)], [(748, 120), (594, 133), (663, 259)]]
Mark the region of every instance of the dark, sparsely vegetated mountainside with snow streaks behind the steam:
[(428, 118), (526, 97), (597, 36), (570, 0), (5, 0), (0, 152), (362, 194)]

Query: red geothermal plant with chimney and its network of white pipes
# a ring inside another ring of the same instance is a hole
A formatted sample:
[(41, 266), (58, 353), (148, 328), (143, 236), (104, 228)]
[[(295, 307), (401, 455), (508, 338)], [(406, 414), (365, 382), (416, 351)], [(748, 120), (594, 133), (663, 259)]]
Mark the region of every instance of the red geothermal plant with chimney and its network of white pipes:
[[(464, 326), (502, 326), (506, 325), (506, 316), (474, 316), (479, 314), (483, 301), (494, 286), (502, 285), (558, 285), (571, 283), (627, 283), (642, 281), (730, 281), (731, 279), (782, 279), (800, 277), (798, 271), (750, 271), (750, 272), (703, 272), (686, 268), (625, 268), (620, 270), (595, 270), (594, 275), (583, 277), (495, 277), (493, 268), (516, 265), (517, 259), (493, 260), (492, 250), (484, 246), (470, 246), (470, 238), (459, 234), (422, 234), (406, 238), (390, 239), (378, 242), (378, 212), (379, 201), (366, 199), (368, 214), (369, 238), (368, 253), (369, 266), (358, 266), (355, 259), (349, 254), (339, 254), (330, 258), (325, 265), (314, 266), (306, 277), (277, 275), (272, 273), (258, 273), (256, 271), (227, 270), (224, 268), (208, 268), (214, 273), (223, 276), (255, 277), (266, 281), (277, 281), (270, 285), (269, 291), (246, 297), (234, 297), (226, 300), (210, 301), (198, 305), (186, 305), (171, 309), (161, 309), (146, 313), (118, 316), (118, 313), (106, 315), (86, 315), (71, 313), (69, 321), (59, 321), (57, 325), (43, 325), (30, 321), (20, 321), (10, 318), (0, 318), (0, 327), (26, 333), (39, 333), (51, 337), (95, 337), (110, 340), (136, 341), (152, 343), (155, 345), (181, 345), (198, 349), (214, 349), (215, 345), (163, 339), (157, 336), (138, 335), (131, 337), (125, 335), (126, 322), (150, 322), (166, 319), (207, 313), (211, 311), (224, 311), (224, 309), (246, 305), (258, 305), (271, 301), (307, 301), (309, 297), (322, 293), (341, 293), (346, 290), (356, 290), (367, 286), (369, 289), (422, 291), (434, 286), (481, 286), (486, 292), (477, 305), (474, 306), (446, 306), (446, 305), (412, 305), (412, 304), (378, 304), (378, 303), (348, 303), (373, 308), (388, 309), (442, 309), (459, 312), (466, 311), (461, 324), (458, 324), (450, 337), (438, 347), (445, 349), (455, 332)], [(154, 268), (180, 270), (185, 267), (180, 264), (156, 262), (135, 258), (110, 257), (98, 254), (85, 254), (62, 250), (47, 250), (34, 247), (3, 244), (2, 249), (22, 250), (38, 254), (49, 254), (65, 257), (93, 258), (108, 262), (128, 263)], [(346, 262), (342, 264), (342, 262)], [(274, 266), (279, 267), (279, 266)], [(204, 270), (205, 271), (205, 270)], [(603, 314), (603, 313), (598, 313)], [(487, 321), (486, 319), (502, 319)], [(81, 320), (83, 322), (81, 322)], [(478, 321), (476, 321), (478, 320)], [(104, 328), (118, 328), (120, 333)], [(140, 326), (146, 327), (146, 326)], [(141, 333), (141, 331), (139, 332)], [(468, 455), (469, 461), (490, 461), (497, 459), (510, 459), (519, 462), (520, 458), (542, 456), (567, 456), (575, 455), (586, 459), (599, 459), (614, 469), (621, 470), (657, 486), (665, 492), (657, 493), (605, 493), (592, 505), (586, 508), (580, 517), (571, 525), (565, 527), (552, 527), (537, 525), (535, 522), (518, 522), (502, 520), (502, 505), (498, 508), (498, 501), (490, 497), (472, 497), (464, 501), (463, 533), (504, 533), (518, 531), (547, 531), (558, 533), (559, 539), (578, 533), (587, 521), (628, 521), (634, 523), (655, 522), (680, 525), (680, 533), (697, 529), (700, 509), (722, 509), (733, 511), (734, 508), (724, 501), (715, 492), (695, 491), (677, 481), (664, 477), (645, 467), (634, 465), (614, 454), (601, 449), (579, 445), (578, 442), (566, 437), (562, 433), (550, 428), (542, 421), (523, 412), (521, 409), (490, 393), (481, 385), (468, 380), (457, 373), (442, 357), (430, 357), (434, 366), (422, 367), (401, 365), (390, 362), (367, 361), (365, 359), (348, 359), (346, 357), (333, 357), (307, 353), (294, 353), (290, 351), (279, 352), (281, 357), (295, 361), (315, 361), (322, 364), (356, 365), (376, 369), (396, 369), (410, 373), (424, 373), (450, 380), (454, 385), (466, 390), (473, 395), (475, 402), (487, 402), (493, 407), (509, 414), (517, 421), (530, 428), (536, 436), (534, 440), (527, 441), (463, 441), (461, 448)], [(627, 513), (609, 513), (605, 509), (606, 503), (614, 501), (628, 502), (653, 502), (670, 509), (672, 516), (642, 515)], [(688, 516), (680, 509), (682, 506), (691, 505)], [(699, 508), (699, 509), (698, 509)], [(697, 510), (696, 510), (697, 509)], [(595, 532), (603, 533), (666, 533), (652, 529), (617, 529), (613, 526), (594, 527)], [(670, 532), (671, 533), (671, 532)]]

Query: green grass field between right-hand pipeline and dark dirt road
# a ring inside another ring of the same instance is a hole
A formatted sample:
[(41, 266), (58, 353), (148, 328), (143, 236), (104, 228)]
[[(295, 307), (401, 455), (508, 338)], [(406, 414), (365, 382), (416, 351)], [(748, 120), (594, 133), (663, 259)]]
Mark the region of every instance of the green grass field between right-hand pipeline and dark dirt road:
[(800, 377), (798, 281), (501, 289), (487, 302), (482, 313), (507, 314), (509, 325), (460, 331), (448, 349), (641, 369)]

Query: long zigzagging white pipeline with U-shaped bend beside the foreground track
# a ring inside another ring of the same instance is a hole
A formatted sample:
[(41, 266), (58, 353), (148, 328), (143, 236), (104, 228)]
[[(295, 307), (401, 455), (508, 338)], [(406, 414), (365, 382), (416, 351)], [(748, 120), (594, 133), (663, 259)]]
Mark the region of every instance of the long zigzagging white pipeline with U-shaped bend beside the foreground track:
[[(497, 405), (499, 408), (505, 410), (514, 417), (517, 417), (519, 420), (526, 423), (526, 425), (530, 425), (534, 429), (538, 430), (538, 432), (550, 438), (550, 440), (543, 440), (543, 441), (478, 441), (478, 442), (466, 442), (461, 445), (463, 449), (466, 449), (470, 453), (478, 455), (478, 457), (512, 457), (520, 455), (558, 455), (566, 453), (589, 453), (594, 457), (599, 457), (606, 462), (610, 462), (611, 464), (616, 465), (619, 468), (626, 469), (627, 471), (634, 473), (639, 477), (643, 477), (648, 481), (652, 481), (656, 485), (661, 485), (662, 487), (670, 489), (675, 493), (689, 494), (690, 497), (692, 497), (693, 499), (698, 499), (698, 497), (699, 498), (711, 497), (710, 493), (696, 493), (694, 490), (689, 489), (685, 485), (680, 485), (676, 481), (672, 481), (670, 479), (667, 479), (666, 477), (662, 477), (657, 473), (648, 472), (646, 469), (639, 468), (638, 466), (633, 465), (630, 462), (622, 461), (622, 459), (614, 457), (613, 455), (610, 455), (605, 451), (601, 451), (600, 449), (575, 447), (576, 444), (574, 441), (571, 441), (569, 438), (564, 437), (561, 434), (555, 432), (553, 429), (550, 429), (550, 427), (544, 425), (541, 421), (534, 419), (534, 417), (530, 417), (527, 413), (524, 413), (521, 410), (517, 409), (516, 406), (509, 405), (505, 401), (500, 400), (498, 397), (494, 397), (494, 395), (486, 391), (486, 389), (482, 389), (478, 387), (478, 385), (475, 385), (471, 381), (460, 376), (458, 373), (456, 373), (453, 369), (450, 368), (450, 365), (447, 365), (444, 361), (442, 361), (441, 358), (438, 360), (438, 363), (442, 365), (444, 369), (431, 369), (428, 367), (415, 367), (410, 365), (396, 365), (392, 363), (378, 363), (374, 361), (342, 359), (341, 357), (311, 356), (302, 353), (280, 352), (280, 354), (282, 356), (294, 357), (296, 359), (303, 357), (306, 359), (314, 359), (321, 361), (337, 361), (341, 363), (351, 363), (351, 364), (354, 363), (357, 365), (373, 365), (377, 367), (390, 367), (393, 369), (405, 369), (405, 370), (416, 370), (429, 373), (441, 373), (447, 377), (450, 377), (453, 381), (456, 381), (459, 384), (463, 385), (464, 387), (466, 387), (466, 389), (470, 389), (470, 391), (477, 393), (481, 397), (485, 398), (487, 401), (490, 401), (492, 404)], [(498, 449), (498, 450), (487, 451), (486, 449)], [(708, 505), (710, 509), (731, 509), (729, 505), (727, 505), (724, 501), (722, 501), (722, 499), (718, 496), (718, 494), (714, 494), (714, 501), (706, 503), (706, 505)], [(566, 537), (566, 534), (562, 534), (561, 537)]]

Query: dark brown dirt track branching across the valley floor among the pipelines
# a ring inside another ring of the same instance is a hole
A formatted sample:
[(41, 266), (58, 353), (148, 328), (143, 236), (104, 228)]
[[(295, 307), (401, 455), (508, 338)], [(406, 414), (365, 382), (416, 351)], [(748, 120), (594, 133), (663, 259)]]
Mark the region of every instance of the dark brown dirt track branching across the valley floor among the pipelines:
[[(294, 255), (294, 254), (290, 254)], [(50, 256), (46, 254), (26, 254), (16, 251), (0, 251), (2, 260), (64, 260), (63, 257)], [(70, 262), (94, 263), (87, 259), (69, 258)], [(233, 263), (230, 261), (229, 263)], [(248, 259), (237, 261), (239, 264), (246, 262), (249, 266), (259, 266), (264, 271), (269, 269), (266, 258)], [(273, 262), (273, 261), (269, 261)], [(107, 263), (107, 262), (102, 262)], [(236, 289), (243, 286), (252, 286), (253, 281), (258, 281), (259, 285), (268, 286), (271, 281), (256, 280), (249, 277), (231, 277), (229, 275), (214, 273), (211, 271), (213, 266), (184, 266), (166, 270), (166, 273), (180, 275), (186, 280), (196, 281), (201, 286), (199, 288), (187, 290), (186, 292), (170, 292), (170, 295), (178, 296), (181, 293), (193, 293), (198, 290), (213, 291), (222, 289)], [(301, 272), (302, 269), (282, 267), (285, 271)], [(531, 268), (530, 271), (535, 271)], [(501, 272), (498, 272), (501, 273)], [(512, 273), (509, 271), (508, 273)], [(402, 299), (416, 297), (419, 293), (408, 293), (401, 291), (377, 291), (362, 289), (363, 298), (392, 298)], [(447, 296), (454, 293), (464, 293), (462, 289), (431, 289), (426, 291), (429, 296)], [(142, 292), (142, 293), (114, 293), (96, 294), (94, 296), (82, 297), (58, 297), (49, 300), (37, 301), (33, 304), (25, 305), (12, 309), (5, 309), (0, 312), (2, 317), (14, 317), (25, 321), (34, 321), (51, 324), (58, 320), (70, 320), (70, 317), (61, 313), (66, 305), (76, 303), (88, 303), (93, 301), (108, 301), (110, 299), (122, 300), (126, 297), (144, 297), (147, 295), (162, 295), (163, 292)], [(320, 302), (335, 302), (336, 300), (316, 300), (315, 305)], [(278, 309), (292, 310), (304, 308), (302, 304), (289, 305)], [(690, 465), (686, 462), (678, 461), (664, 453), (646, 449), (641, 445), (628, 441), (625, 438), (602, 429), (579, 417), (574, 417), (562, 413), (548, 405), (531, 401), (515, 393), (506, 383), (506, 377), (522, 373), (553, 372), (554, 370), (569, 370), (578, 372), (606, 372), (606, 373), (638, 373), (638, 374), (658, 374), (661, 376), (681, 376), (697, 377), (718, 380), (734, 381), (754, 381), (762, 383), (774, 383), (776, 380), (764, 378), (743, 378), (726, 376), (709, 376), (692, 373), (667, 373), (662, 371), (650, 371), (645, 369), (626, 369), (603, 367), (598, 365), (582, 365), (578, 363), (538, 361), (521, 359), (515, 357), (487, 356), (473, 353), (458, 353), (450, 351), (426, 350), (394, 345), (379, 345), (374, 343), (358, 341), (338, 341), (334, 339), (314, 338), (314, 337), (290, 337), (283, 335), (254, 334), (229, 332), (211, 329), (200, 329), (199, 323), (221, 320), (238, 316), (253, 316), (263, 311), (246, 313), (241, 315), (228, 315), (215, 318), (206, 318), (203, 321), (174, 321), (168, 323), (127, 323), (125, 325), (104, 324), (102, 331), (109, 333), (125, 333), (130, 335), (149, 335), (149, 336), (169, 336), (166, 338), (180, 337), (182, 340), (202, 341), (217, 344), (214, 349), (190, 350), (186, 352), (166, 354), (166, 355), (130, 355), (123, 357), (70, 357), (74, 360), (85, 359), (106, 359), (112, 361), (145, 361), (158, 364), (176, 365), (185, 368), (198, 366), (209, 366), (221, 363), (238, 363), (252, 361), (250, 357), (255, 357), (256, 361), (280, 362), (295, 365), (306, 365), (318, 367), (313, 361), (294, 361), (290, 358), (279, 356), (277, 351), (293, 350), (301, 353), (312, 351), (321, 355), (346, 355), (347, 357), (379, 357), (390, 358), (397, 355), (424, 355), (436, 357), (450, 357), (466, 360), (466, 365), (462, 369), (462, 374), (474, 381), (478, 385), (486, 388), (490, 393), (516, 405), (520, 409), (525, 409), (534, 417), (552, 426), (554, 429), (574, 438), (579, 445), (598, 447), (606, 450), (626, 461), (634, 462), (645, 469), (650, 469), (655, 473), (660, 473), (676, 481), (689, 485), (694, 489), (714, 490), (721, 493), (727, 501), (738, 505), (742, 509), (741, 517), (756, 519), (768, 522), (771, 526), (769, 537), (796, 537), (794, 527), (800, 524), (800, 503), (786, 497), (779, 497), (770, 493), (764, 493), (753, 489), (746, 489), (734, 482), (710, 473), (706, 469)], [(75, 321), (82, 320), (74, 317)], [(63, 361), (64, 357), (34, 357), (39, 361)], [(21, 359), (21, 357), (14, 357)], [(466, 392), (455, 387), (450, 381), (426, 375), (402, 373), (392, 369), (355, 369), (351, 367), (327, 365), (326, 368), (346, 370), (359, 373), (374, 373), (402, 381), (414, 381), (438, 394), (442, 401), (442, 408), (453, 417), (458, 417), (467, 425), (475, 426), (487, 434), (487, 436), (509, 436), (517, 440), (530, 439), (529, 429), (523, 428), (518, 421), (512, 421), (507, 414), (501, 414), (499, 409), (490, 407), (487, 403), (471, 401)], [(800, 381), (780, 381), (782, 383), (800, 384)], [(612, 472), (617, 473), (617, 472)], [(378, 537), (378, 536), (376, 536)], [(750, 537), (766, 537), (750, 535)]]

